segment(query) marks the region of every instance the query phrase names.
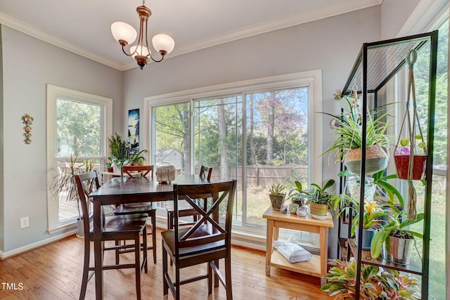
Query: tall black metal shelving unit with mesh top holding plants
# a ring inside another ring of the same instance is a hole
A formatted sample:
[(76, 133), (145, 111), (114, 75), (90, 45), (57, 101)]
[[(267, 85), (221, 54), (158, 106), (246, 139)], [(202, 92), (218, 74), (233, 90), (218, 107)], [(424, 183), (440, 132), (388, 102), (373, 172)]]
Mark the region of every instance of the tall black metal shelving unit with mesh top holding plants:
[[(357, 264), (356, 268), (356, 299), (359, 299), (359, 284), (361, 276), (361, 263), (372, 264), (384, 268), (401, 270), (403, 272), (420, 275), (422, 278), (421, 299), (428, 299), (428, 273), (429, 273), (429, 254), (430, 254), (430, 211), (431, 211), (431, 185), (432, 185), (432, 156), (433, 156), (433, 138), (435, 131), (435, 89), (436, 89), (436, 66), (437, 66), (437, 31), (425, 34), (417, 34), (410, 37), (402, 37), (398, 39), (390, 39), (385, 41), (377, 41), (373, 43), (365, 43), (361, 47), (356, 62), (349, 74), (344, 89), (343, 95), (348, 95), (352, 92), (354, 86), (359, 86), (361, 89), (358, 93), (361, 94), (361, 115), (362, 115), (362, 131), (366, 131), (367, 111), (368, 111), (368, 94), (373, 94), (373, 107), (378, 106), (378, 93), (389, 81), (406, 65), (406, 56), (411, 49), (420, 51), (425, 46), (430, 47), (429, 60), (429, 81), (428, 81), (428, 122), (427, 130), (427, 145), (428, 157), (426, 162), (425, 174), (425, 205), (423, 220), (423, 253), (421, 266), (411, 262), (409, 266), (401, 266), (395, 263), (389, 263), (383, 259), (374, 260), (370, 257), (370, 252), (365, 252), (361, 247), (357, 247), (354, 240), (348, 239), (347, 249), (352, 250)], [(363, 145), (366, 144), (366, 137), (363, 135)], [(363, 147), (361, 156), (366, 157), (366, 149)], [(393, 159), (391, 159), (393, 161)], [(365, 159), (361, 160), (361, 178), (366, 175)], [(342, 189), (342, 183), (341, 183)], [(360, 199), (364, 199), (364, 185), (361, 185)], [(360, 205), (360, 214), (364, 214), (364, 205)], [(351, 226), (351, 222), (349, 223)], [(362, 240), (362, 218), (359, 224), (359, 240)], [(343, 241), (340, 239), (340, 244)], [(344, 241), (345, 243), (345, 241)], [(347, 251), (347, 256), (349, 252)]]

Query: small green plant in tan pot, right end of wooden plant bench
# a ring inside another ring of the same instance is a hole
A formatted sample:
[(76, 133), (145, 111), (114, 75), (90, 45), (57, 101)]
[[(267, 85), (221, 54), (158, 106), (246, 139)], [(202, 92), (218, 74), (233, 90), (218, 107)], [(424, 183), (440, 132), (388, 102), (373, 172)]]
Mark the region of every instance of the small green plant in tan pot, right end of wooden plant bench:
[(309, 211), (311, 216), (316, 219), (323, 219), (328, 212), (331, 202), (333, 201), (334, 195), (326, 192), (328, 188), (331, 188), (335, 184), (334, 179), (330, 179), (321, 187), (316, 183), (311, 183), (312, 189), (309, 196)]

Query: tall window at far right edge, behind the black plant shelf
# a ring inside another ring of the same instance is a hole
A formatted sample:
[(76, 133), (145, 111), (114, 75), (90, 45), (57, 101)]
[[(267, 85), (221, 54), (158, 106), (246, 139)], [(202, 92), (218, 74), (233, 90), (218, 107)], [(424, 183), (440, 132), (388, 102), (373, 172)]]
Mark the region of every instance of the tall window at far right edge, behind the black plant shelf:
[[(432, 199), (431, 199), (431, 222), (430, 222), (430, 272), (429, 272), (429, 294), (430, 299), (446, 299), (446, 199), (448, 183), (446, 177), (447, 170), (447, 149), (448, 149), (448, 70), (449, 70), (449, 18), (437, 27), (438, 46), (437, 46), (437, 74), (436, 74), (436, 100), (435, 100), (435, 136), (433, 151), (433, 177), (432, 177)], [(429, 48), (428, 48), (429, 50)], [(418, 63), (415, 67), (416, 79), (416, 98), (418, 107), (428, 107), (428, 68), (420, 65), (420, 58), (425, 56), (428, 59), (428, 53), (418, 53)], [(424, 96), (425, 95), (425, 96)], [(425, 119), (427, 111), (418, 110), (419, 118)], [(424, 123), (424, 122), (422, 122)], [(426, 129), (425, 129), (426, 130)], [(416, 186), (418, 195), (418, 211), (423, 209), (424, 189), (421, 185)], [(419, 196), (420, 195), (420, 196)], [(413, 230), (423, 232), (423, 222), (413, 225)], [(447, 239), (449, 236), (447, 235)], [(418, 240), (418, 249), (421, 249), (422, 240)], [(415, 261), (420, 262), (420, 256), (413, 250), (411, 253)], [(448, 280), (448, 279), (447, 279)]]

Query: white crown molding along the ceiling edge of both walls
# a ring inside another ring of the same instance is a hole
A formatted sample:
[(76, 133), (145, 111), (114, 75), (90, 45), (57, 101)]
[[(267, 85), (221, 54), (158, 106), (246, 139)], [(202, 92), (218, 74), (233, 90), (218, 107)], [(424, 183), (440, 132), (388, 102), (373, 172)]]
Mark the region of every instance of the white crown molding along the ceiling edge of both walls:
[[(226, 32), (224, 34), (218, 34), (214, 37), (208, 39), (203, 39), (191, 44), (186, 44), (175, 48), (175, 50), (170, 53), (165, 59), (173, 58), (175, 56), (181, 56), (186, 53), (191, 53), (204, 48), (209, 48), (212, 46), (217, 46), (220, 44), (229, 43), (230, 41), (236, 41), (238, 39), (244, 39), (246, 37), (253, 37), (257, 34), (263, 34), (266, 32), (271, 32), (274, 30), (281, 30), (286, 27), (292, 27), (295, 25), (304, 24), (307, 22), (312, 22), (316, 20), (321, 20), (324, 18), (330, 18), (335, 15), (341, 15), (343, 13), (349, 13), (352, 11), (358, 11), (363, 8), (368, 8), (371, 6), (378, 6), (383, 2), (383, 0), (347, 0), (340, 2), (339, 4), (333, 4), (330, 6), (321, 6), (319, 8), (310, 9), (308, 11), (303, 11), (301, 13), (295, 13), (293, 15), (283, 16), (281, 18), (276, 18), (269, 22), (262, 22), (257, 25), (252, 25), (248, 27), (241, 28), (239, 30), (233, 30)], [(103, 65), (108, 65), (114, 69), (125, 71), (138, 67), (136, 62), (130, 61), (130, 63), (121, 64), (117, 63), (115, 60), (110, 60), (101, 56), (98, 53), (87, 50), (75, 44), (72, 44), (64, 39), (55, 37), (47, 32), (39, 30), (35, 27), (27, 25), (25, 22), (21, 22), (10, 16), (0, 13), (0, 23), (11, 27), (15, 30), (29, 34), (32, 37), (46, 41), (49, 44), (58, 46), (72, 53), (76, 53), (85, 58), (89, 58)]]

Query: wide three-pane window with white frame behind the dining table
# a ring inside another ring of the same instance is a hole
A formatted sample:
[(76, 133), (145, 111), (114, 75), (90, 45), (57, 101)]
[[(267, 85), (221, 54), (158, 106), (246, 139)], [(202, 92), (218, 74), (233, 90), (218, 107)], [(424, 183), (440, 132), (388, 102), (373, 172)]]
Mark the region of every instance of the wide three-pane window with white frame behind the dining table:
[(186, 174), (204, 164), (212, 181), (237, 179), (233, 230), (264, 235), (270, 183), (321, 182), (321, 158), (308, 155), (321, 153), (314, 99), (320, 71), (146, 98), (152, 161)]

